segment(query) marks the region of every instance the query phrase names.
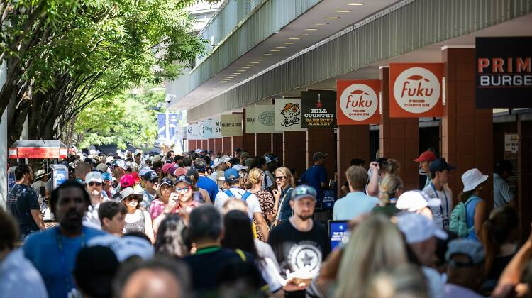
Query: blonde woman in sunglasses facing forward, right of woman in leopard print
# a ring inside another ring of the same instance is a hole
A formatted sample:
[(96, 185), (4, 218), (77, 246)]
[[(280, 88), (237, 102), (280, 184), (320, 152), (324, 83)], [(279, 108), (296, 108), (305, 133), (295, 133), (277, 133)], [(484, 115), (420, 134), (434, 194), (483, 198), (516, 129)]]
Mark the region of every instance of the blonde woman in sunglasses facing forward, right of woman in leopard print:
[(274, 172), (277, 189), (273, 190), (273, 197), (275, 204), (273, 212), (276, 214), (274, 225), (278, 225), (283, 221), (287, 221), (292, 216), (292, 208), (290, 207), (290, 195), (292, 189), (296, 187), (292, 172), (288, 167), (279, 167)]

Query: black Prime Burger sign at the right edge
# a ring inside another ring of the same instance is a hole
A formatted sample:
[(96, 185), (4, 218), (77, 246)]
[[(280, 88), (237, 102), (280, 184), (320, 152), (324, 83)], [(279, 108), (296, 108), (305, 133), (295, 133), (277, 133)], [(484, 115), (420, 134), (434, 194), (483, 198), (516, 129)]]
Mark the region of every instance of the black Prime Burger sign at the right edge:
[(476, 38), (477, 108), (532, 108), (532, 37)]

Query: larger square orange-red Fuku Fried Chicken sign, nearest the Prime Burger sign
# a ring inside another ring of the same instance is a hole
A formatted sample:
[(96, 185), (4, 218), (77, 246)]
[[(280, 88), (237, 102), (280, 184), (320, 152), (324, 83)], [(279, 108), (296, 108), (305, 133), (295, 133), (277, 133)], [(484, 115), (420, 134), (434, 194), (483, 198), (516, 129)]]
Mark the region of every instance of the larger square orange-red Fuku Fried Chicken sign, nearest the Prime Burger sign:
[(389, 116), (443, 116), (443, 63), (390, 63)]

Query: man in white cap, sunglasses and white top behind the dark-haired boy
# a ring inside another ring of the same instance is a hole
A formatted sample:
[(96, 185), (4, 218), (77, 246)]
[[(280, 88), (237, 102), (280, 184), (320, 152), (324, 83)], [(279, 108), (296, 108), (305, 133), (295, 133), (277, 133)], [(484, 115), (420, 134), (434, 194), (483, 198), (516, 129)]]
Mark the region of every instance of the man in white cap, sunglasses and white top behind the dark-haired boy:
[(103, 182), (104, 180), (102, 179), (100, 172), (89, 172), (87, 176), (85, 176), (85, 187), (89, 193), (89, 197), (91, 198), (89, 209), (87, 209), (85, 216), (83, 216), (83, 224), (85, 226), (101, 229), (101, 222), (98, 217), (98, 209), (101, 203), (109, 200), (101, 194)]

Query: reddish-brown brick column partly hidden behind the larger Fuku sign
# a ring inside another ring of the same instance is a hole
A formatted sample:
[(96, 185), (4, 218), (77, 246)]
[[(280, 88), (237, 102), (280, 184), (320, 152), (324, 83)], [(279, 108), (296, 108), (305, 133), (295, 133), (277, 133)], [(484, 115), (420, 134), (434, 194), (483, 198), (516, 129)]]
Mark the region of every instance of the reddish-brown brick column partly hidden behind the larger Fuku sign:
[(379, 126), (380, 156), (401, 163), (399, 176), (406, 189), (419, 189), (419, 118), (389, 117), (389, 68), (380, 70), (382, 114)]

